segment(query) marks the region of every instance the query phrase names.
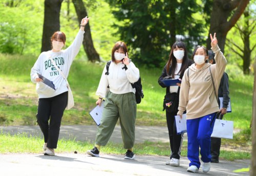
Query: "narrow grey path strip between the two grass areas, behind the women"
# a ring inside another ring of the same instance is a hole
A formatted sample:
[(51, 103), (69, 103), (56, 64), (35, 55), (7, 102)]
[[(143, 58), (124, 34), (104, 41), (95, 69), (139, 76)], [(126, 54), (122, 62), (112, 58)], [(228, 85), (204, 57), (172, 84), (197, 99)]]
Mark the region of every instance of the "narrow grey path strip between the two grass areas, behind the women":
[[(17, 133), (27, 133), (32, 136), (41, 136), (39, 126), (0, 126), (0, 131), (4, 133), (10, 133), (11, 135)], [(62, 125), (60, 127), (59, 138), (76, 139), (79, 141), (95, 141), (95, 135), (97, 132), (97, 125)], [(143, 143), (148, 141), (162, 141), (169, 142), (167, 127), (148, 127), (148, 126), (136, 126), (135, 142)], [(120, 125), (116, 125), (116, 128), (110, 138), (110, 141), (115, 143), (122, 143), (122, 136)]]

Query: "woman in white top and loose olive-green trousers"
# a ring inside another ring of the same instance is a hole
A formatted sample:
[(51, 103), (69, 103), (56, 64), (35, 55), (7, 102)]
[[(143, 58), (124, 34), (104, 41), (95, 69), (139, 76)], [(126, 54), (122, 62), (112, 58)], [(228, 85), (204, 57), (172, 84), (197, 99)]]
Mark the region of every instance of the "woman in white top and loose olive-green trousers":
[(135, 141), (135, 119), (137, 104), (135, 83), (140, 78), (139, 69), (128, 58), (127, 46), (118, 41), (112, 48), (112, 60), (107, 70), (103, 69), (96, 95), (96, 104), (101, 105), (105, 98), (102, 118), (96, 134), (95, 146), (87, 154), (99, 157), (100, 146), (109, 141), (119, 118), (123, 147), (127, 149), (124, 159), (134, 159), (133, 146)]

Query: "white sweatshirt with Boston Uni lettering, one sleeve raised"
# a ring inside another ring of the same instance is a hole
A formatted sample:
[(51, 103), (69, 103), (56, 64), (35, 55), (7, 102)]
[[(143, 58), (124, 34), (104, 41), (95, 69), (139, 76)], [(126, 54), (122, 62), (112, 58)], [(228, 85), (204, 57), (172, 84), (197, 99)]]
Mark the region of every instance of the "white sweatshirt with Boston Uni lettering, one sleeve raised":
[[(49, 98), (68, 91), (66, 81), (56, 70), (50, 57), (55, 61), (56, 66), (60, 68), (65, 77), (68, 78), (71, 64), (82, 44), (83, 33), (84, 31), (79, 30), (73, 43), (65, 50), (60, 52), (48, 51), (40, 54), (30, 72), (31, 81), (36, 83), (36, 92), (39, 98)], [(35, 81), (38, 78), (37, 73), (52, 81), (56, 90), (42, 82), (37, 83)]]

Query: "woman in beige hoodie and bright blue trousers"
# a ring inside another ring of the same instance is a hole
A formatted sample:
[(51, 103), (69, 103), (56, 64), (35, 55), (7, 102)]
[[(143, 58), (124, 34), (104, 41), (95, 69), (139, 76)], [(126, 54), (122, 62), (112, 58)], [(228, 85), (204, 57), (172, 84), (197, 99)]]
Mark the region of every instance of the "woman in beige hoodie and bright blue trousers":
[(200, 168), (199, 147), (203, 172), (210, 170), (210, 136), (214, 128), (218, 89), (227, 61), (220, 51), (216, 34), (211, 36), (211, 49), (215, 53), (216, 64), (205, 63), (208, 51), (197, 46), (192, 58), (195, 64), (186, 69), (181, 82), (178, 115), (187, 117), (187, 158), (190, 161), (188, 172), (198, 172)]

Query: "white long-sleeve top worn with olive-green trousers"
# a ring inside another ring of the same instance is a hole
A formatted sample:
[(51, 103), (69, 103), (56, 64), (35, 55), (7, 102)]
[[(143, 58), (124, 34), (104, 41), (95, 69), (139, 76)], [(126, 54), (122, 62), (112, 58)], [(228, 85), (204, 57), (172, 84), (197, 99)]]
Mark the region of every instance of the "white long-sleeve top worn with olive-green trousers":
[[(133, 92), (135, 93), (135, 88), (132, 87), (131, 83), (135, 83), (140, 78), (140, 71), (130, 62), (125, 70), (124, 64), (122, 62), (116, 64), (115, 62), (110, 63), (109, 75), (106, 75), (106, 66), (103, 69), (99, 86), (96, 91), (96, 95), (104, 98), (108, 91), (115, 94), (124, 94)], [(109, 85), (109, 89), (108, 89)]]

